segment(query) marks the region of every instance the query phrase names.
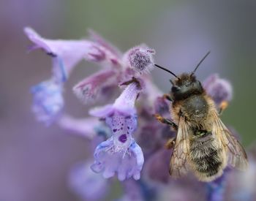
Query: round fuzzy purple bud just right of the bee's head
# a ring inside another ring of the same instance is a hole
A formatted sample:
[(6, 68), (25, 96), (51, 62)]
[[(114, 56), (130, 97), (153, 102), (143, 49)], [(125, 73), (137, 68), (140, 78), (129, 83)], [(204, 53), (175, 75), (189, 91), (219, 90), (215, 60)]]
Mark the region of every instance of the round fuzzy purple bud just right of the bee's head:
[(217, 74), (209, 76), (203, 82), (203, 87), (208, 95), (214, 99), (216, 105), (223, 101), (230, 102), (232, 99), (233, 89), (231, 84), (227, 80), (219, 78)]

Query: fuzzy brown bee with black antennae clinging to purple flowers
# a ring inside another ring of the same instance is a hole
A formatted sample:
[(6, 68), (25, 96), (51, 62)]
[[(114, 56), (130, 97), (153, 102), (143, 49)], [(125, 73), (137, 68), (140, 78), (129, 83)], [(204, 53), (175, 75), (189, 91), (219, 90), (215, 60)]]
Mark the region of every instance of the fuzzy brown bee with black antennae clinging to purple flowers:
[(171, 101), (172, 120), (155, 115), (158, 121), (177, 131), (176, 138), (167, 143), (167, 147), (174, 147), (169, 171), (173, 178), (184, 176), (190, 170), (199, 181), (209, 182), (221, 176), (228, 164), (238, 170), (246, 170), (248, 166), (244, 148), (219, 118), (227, 103), (222, 102), (217, 108), (195, 77), (209, 53), (193, 72), (180, 76), (155, 64), (175, 77), (170, 80), (173, 85), (170, 94), (164, 95)]

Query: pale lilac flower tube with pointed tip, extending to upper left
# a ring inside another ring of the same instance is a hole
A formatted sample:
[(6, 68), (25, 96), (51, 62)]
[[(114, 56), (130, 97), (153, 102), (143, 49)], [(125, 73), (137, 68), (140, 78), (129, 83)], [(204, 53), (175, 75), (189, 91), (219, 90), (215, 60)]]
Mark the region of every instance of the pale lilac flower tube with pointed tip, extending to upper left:
[(29, 37), (34, 46), (31, 50), (42, 49), (48, 55), (59, 58), (64, 64), (64, 69), (69, 73), (73, 67), (83, 58), (89, 61), (105, 62), (118, 64), (118, 58), (110, 50), (97, 42), (86, 39), (63, 40), (63, 39), (45, 39), (37, 34), (33, 29), (26, 27), (25, 34)]

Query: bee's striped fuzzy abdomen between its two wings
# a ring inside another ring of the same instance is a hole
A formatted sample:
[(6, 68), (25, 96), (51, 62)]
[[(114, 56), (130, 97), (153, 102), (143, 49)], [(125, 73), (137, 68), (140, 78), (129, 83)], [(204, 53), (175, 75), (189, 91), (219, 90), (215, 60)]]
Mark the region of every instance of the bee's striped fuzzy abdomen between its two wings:
[(221, 150), (214, 144), (211, 133), (190, 140), (190, 160), (203, 180), (222, 171)]

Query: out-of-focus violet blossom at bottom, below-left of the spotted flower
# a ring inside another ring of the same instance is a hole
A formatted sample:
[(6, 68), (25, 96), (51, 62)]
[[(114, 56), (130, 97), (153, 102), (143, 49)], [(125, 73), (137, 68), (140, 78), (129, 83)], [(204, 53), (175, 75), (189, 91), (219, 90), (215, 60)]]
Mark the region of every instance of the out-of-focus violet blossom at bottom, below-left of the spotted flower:
[(110, 181), (92, 172), (89, 164), (80, 163), (72, 168), (69, 186), (82, 200), (102, 200), (108, 194)]

